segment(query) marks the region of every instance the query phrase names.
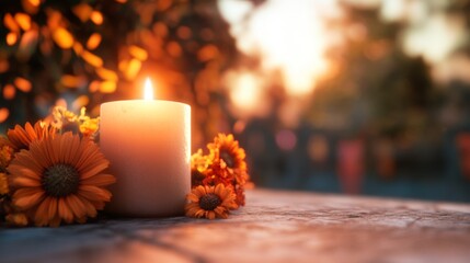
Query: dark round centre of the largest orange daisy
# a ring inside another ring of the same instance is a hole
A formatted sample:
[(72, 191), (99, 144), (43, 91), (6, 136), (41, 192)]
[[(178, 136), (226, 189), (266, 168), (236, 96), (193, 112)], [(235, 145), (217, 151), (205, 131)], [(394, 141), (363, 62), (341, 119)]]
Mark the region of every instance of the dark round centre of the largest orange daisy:
[(69, 164), (58, 163), (43, 173), (43, 187), (50, 196), (62, 197), (73, 194), (77, 192), (79, 183), (79, 172)]

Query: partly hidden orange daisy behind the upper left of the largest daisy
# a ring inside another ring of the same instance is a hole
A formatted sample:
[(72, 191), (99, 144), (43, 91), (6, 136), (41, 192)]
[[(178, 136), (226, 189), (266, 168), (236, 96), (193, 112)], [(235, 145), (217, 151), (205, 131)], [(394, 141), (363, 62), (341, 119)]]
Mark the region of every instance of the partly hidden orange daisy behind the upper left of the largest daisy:
[(38, 121), (34, 124), (34, 127), (26, 123), (24, 128), (20, 125), (15, 125), (13, 129), (9, 129), (7, 136), (15, 150), (28, 149), (30, 144), (37, 139), (43, 139), (53, 136), (57, 133), (57, 129), (53, 126)]

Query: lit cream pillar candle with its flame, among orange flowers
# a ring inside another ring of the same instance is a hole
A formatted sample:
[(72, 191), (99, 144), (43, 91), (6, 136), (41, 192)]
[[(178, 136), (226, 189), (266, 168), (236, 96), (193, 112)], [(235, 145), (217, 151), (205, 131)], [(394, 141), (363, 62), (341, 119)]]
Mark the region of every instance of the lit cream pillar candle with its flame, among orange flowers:
[(152, 99), (101, 105), (100, 147), (116, 176), (106, 209), (122, 216), (183, 215), (191, 190), (191, 107)]

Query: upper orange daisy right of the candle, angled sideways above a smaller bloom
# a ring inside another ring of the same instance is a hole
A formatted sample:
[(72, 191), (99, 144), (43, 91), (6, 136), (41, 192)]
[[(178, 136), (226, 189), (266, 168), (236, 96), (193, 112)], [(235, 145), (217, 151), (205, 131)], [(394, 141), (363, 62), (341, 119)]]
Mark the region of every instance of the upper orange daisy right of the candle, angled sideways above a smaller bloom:
[(214, 162), (218, 160), (225, 162), (225, 165), (220, 164), (220, 168), (227, 169), (234, 176), (237, 183), (244, 184), (249, 180), (244, 150), (239, 147), (239, 142), (234, 140), (233, 135), (218, 134), (214, 138), (214, 142), (207, 145), (207, 148), (210, 150), (210, 155), (214, 156)]

